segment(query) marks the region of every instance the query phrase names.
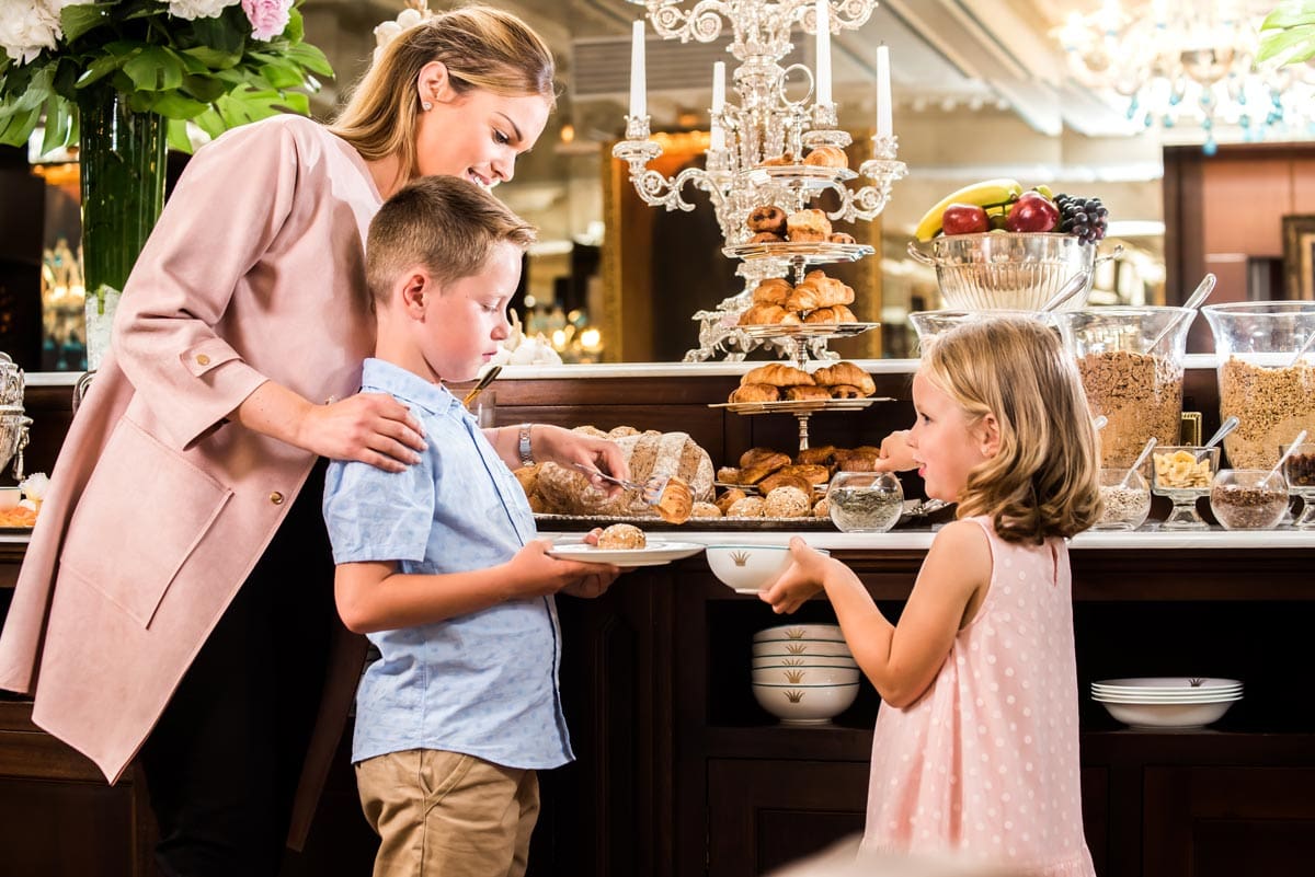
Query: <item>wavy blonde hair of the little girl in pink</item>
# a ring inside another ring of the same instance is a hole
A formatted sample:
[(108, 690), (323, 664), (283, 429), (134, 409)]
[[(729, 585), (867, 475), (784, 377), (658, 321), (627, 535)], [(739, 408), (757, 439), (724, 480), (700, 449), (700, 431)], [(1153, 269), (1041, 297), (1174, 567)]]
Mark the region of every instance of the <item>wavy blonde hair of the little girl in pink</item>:
[(1053, 331), (1026, 318), (967, 323), (936, 339), (922, 373), (970, 419), (999, 423), (999, 453), (968, 474), (960, 517), (989, 515), (1001, 538), (1036, 544), (1097, 521), (1095, 429)]

